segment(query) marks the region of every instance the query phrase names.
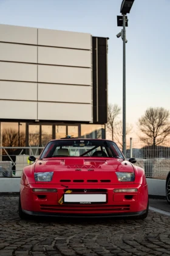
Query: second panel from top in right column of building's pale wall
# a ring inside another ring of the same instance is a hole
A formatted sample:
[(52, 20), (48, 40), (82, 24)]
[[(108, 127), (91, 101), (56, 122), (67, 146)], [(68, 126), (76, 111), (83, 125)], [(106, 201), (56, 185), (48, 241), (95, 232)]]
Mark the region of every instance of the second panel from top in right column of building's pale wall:
[(38, 63), (91, 67), (91, 52), (77, 49), (38, 47)]

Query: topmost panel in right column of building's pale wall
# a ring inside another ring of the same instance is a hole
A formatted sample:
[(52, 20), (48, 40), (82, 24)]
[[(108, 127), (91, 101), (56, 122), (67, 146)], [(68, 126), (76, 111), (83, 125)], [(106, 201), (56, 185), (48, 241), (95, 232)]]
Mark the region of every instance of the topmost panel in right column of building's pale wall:
[(38, 44), (89, 50), (91, 47), (91, 35), (80, 32), (38, 29)]

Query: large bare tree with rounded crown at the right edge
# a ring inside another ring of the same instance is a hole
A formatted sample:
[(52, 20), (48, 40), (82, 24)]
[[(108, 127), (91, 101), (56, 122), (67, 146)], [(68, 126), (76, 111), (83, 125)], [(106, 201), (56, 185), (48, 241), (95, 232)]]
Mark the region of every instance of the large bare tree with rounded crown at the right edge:
[(144, 133), (144, 137), (140, 136), (141, 141), (155, 148), (170, 134), (169, 110), (163, 107), (148, 108), (138, 120), (138, 128)]

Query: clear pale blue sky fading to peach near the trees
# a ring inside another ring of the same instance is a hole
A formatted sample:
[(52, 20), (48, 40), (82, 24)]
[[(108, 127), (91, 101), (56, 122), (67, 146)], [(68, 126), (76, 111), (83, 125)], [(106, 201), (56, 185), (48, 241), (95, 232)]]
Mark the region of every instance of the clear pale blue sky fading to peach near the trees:
[[(109, 37), (108, 101), (123, 108), (123, 41), (116, 35), (122, 0), (0, 0), (0, 24)], [(127, 14), (126, 123), (149, 107), (170, 110), (170, 0), (135, 0)], [(120, 119), (122, 116), (120, 116)], [(137, 129), (134, 130), (136, 132)]]

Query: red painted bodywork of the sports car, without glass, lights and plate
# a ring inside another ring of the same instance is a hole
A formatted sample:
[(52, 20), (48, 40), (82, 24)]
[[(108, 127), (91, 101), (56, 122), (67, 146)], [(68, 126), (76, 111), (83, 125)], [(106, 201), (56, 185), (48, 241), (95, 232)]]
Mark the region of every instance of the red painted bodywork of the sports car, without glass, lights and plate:
[[(23, 169), (20, 183), (22, 212), (45, 216), (144, 216), (146, 218), (148, 185), (144, 170), (125, 160), (123, 155), (122, 158), (93, 156), (42, 158), (41, 155), (35, 163)], [(35, 173), (38, 172), (53, 172), (52, 180), (35, 181)], [(116, 172), (134, 173), (135, 179), (120, 182)], [(34, 192), (35, 188), (52, 188), (57, 191)], [(114, 192), (115, 189), (127, 188), (135, 188), (137, 191)], [(85, 193), (106, 194), (106, 202), (60, 204), (58, 201), (67, 190), (71, 190), (72, 194), (80, 194), (80, 197)]]

